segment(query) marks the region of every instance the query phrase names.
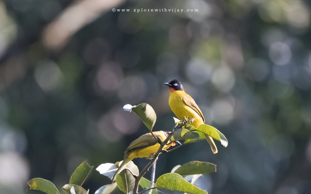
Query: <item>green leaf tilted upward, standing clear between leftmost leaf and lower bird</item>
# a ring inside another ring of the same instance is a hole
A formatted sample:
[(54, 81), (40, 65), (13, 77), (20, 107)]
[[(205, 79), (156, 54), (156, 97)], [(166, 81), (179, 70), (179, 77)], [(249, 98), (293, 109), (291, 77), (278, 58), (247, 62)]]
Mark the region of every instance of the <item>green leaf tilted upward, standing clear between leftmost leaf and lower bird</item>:
[(78, 186), (82, 186), (83, 182), (91, 173), (94, 166), (90, 166), (86, 163), (86, 161), (82, 162), (77, 169), (72, 173), (69, 184), (75, 184)]

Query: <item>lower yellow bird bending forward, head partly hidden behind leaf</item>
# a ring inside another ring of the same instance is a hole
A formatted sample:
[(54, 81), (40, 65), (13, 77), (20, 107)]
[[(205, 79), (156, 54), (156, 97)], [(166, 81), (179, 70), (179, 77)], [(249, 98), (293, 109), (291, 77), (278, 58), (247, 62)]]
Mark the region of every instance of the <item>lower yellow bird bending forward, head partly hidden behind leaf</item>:
[[(156, 131), (153, 132), (153, 134), (154, 136), (159, 137), (161, 141), (164, 141), (167, 138), (167, 136), (169, 136), (169, 132), (164, 131)], [(154, 136), (151, 133), (146, 133), (138, 137), (136, 140), (132, 141), (132, 143), (130, 143), (130, 145), (124, 151), (125, 154), (123, 162), (119, 164), (119, 168), (117, 172), (114, 174), (114, 177), (112, 178), (113, 181), (116, 175), (121, 170), (121, 168), (129, 161), (131, 161), (134, 158), (150, 157), (159, 150), (160, 144), (158, 143), (158, 140), (154, 138)], [(170, 146), (174, 145), (175, 142), (172, 141), (169, 145), (164, 145), (163, 149), (166, 150)]]

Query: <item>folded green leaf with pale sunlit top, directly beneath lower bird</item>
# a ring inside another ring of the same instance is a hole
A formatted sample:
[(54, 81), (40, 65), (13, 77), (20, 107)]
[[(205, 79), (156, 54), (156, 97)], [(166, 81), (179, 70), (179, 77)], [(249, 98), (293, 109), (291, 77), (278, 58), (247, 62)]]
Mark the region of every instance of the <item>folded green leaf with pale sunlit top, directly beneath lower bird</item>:
[[(130, 169), (135, 175), (139, 174), (138, 167), (132, 161), (129, 161), (124, 165), (124, 167)], [(119, 189), (124, 193), (133, 191), (135, 184), (135, 178), (132, 173), (128, 171), (128, 169), (122, 170), (115, 179)]]

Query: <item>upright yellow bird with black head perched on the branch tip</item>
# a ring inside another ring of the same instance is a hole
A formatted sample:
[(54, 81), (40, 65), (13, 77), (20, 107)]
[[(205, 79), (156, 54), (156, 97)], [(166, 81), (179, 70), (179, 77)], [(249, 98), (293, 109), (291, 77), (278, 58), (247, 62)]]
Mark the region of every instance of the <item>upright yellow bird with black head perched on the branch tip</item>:
[[(205, 124), (205, 119), (200, 108), (197, 106), (193, 98), (183, 90), (183, 85), (180, 81), (174, 79), (169, 83), (164, 84), (169, 86), (169, 106), (180, 120), (184, 117), (189, 117), (190, 119), (195, 118), (192, 125), (196, 128)], [(207, 134), (204, 135), (211, 146), (213, 153), (216, 154), (218, 150), (213, 138)]]

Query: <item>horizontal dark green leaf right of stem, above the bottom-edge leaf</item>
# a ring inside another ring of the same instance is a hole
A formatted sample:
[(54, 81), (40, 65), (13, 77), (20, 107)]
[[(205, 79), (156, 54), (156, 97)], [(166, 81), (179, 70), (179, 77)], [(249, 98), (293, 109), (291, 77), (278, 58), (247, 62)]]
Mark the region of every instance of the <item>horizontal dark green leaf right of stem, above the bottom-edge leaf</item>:
[(216, 164), (209, 162), (191, 161), (175, 170), (180, 175), (204, 174), (216, 172)]

